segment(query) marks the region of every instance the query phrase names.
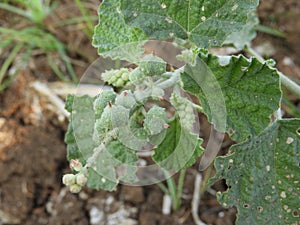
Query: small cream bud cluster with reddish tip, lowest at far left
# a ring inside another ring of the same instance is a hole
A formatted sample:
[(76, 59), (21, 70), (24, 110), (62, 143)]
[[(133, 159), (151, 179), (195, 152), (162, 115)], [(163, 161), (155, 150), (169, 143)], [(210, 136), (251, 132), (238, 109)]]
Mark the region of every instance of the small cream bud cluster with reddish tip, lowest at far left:
[(72, 159), (70, 167), (74, 169), (77, 174), (65, 174), (62, 178), (62, 182), (69, 188), (70, 192), (79, 193), (88, 180), (86, 168), (82, 166), (78, 159)]

